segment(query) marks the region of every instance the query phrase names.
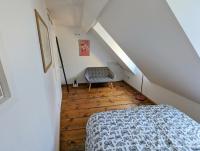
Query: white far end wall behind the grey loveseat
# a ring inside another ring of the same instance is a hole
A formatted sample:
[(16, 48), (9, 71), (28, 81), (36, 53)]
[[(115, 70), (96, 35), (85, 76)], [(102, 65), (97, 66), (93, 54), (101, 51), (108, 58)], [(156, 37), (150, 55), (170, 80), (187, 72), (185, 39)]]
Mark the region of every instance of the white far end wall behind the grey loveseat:
[[(112, 55), (112, 50), (97, 37), (94, 31), (89, 31), (85, 34), (77, 28), (57, 26), (56, 32), (69, 83), (72, 83), (74, 79), (77, 79), (79, 83), (85, 83), (85, 69), (87, 67), (101, 66), (110, 67), (116, 75), (115, 80), (122, 80), (123, 72), (121, 72), (121, 68)], [(80, 33), (80, 36), (76, 36), (75, 33)], [(79, 56), (79, 39), (90, 40), (90, 56)], [(64, 80), (62, 81), (64, 83)]]

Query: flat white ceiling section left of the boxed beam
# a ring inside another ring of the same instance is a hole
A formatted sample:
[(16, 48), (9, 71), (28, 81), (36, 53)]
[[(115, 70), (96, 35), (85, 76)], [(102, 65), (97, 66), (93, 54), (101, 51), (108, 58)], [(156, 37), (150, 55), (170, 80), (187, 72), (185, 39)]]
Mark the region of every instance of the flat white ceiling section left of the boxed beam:
[(46, 3), (57, 25), (81, 26), (84, 0), (46, 0)]

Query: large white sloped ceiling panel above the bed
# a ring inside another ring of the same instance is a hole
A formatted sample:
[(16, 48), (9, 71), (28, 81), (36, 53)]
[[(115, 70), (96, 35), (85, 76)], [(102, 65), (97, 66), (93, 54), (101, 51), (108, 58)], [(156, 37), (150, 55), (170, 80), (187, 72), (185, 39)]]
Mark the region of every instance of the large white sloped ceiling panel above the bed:
[(149, 80), (200, 102), (200, 58), (166, 1), (111, 0), (99, 22)]

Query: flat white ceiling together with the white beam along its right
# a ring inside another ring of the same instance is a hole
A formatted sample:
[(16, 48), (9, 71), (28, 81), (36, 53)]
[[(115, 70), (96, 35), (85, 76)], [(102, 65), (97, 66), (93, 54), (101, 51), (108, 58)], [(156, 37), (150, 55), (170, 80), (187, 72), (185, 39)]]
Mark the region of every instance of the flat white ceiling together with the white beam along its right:
[(46, 4), (55, 24), (88, 32), (108, 1), (46, 0)]

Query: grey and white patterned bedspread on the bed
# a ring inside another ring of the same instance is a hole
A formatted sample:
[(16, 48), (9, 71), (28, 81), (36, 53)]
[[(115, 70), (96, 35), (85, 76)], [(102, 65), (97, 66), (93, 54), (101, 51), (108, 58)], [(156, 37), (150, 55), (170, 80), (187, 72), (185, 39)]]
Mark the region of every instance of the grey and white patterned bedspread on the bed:
[(94, 114), (86, 151), (200, 151), (200, 124), (167, 106)]

